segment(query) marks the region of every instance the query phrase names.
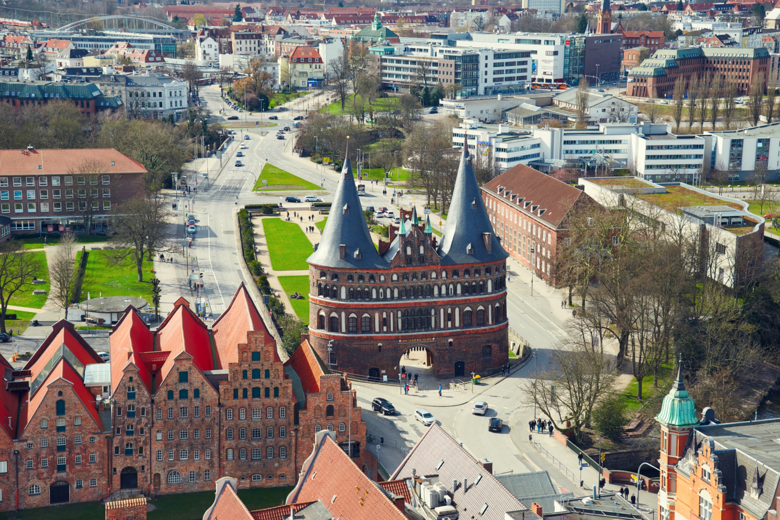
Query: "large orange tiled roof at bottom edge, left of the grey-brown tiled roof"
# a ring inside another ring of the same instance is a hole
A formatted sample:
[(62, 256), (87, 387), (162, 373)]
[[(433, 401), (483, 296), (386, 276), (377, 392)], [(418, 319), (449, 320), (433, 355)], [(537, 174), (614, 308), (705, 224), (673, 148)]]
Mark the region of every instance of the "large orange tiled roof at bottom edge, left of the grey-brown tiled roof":
[(289, 494), (290, 503), (321, 501), (342, 520), (406, 520), (385, 492), (369, 479), (344, 450), (322, 432), (314, 454), (304, 463), (304, 476)]

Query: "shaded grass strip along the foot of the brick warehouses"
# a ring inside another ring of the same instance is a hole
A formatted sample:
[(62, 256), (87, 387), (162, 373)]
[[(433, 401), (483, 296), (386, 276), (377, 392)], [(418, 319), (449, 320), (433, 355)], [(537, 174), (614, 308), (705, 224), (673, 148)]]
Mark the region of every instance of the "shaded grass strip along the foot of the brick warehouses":
[[(252, 490), (239, 490), (241, 501), (250, 511), (257, 509), (273, 508), (282, 505), (289, 494), (290, 487), (262, 487)], [(154, 511), (149, 511), (149, 520), (190, 520), (201, 518), (204, 511), (214, 504), (214, 491), (200, 491), (198, 493), (179, 493), (175, 495), (161, 495), (157, 500), (149, 501), (154, 504)], [(22, 509), (0, 513), (0, 520), (103, 520), (105, 518), (105, 505), (97, 502), (81, 502), (76, 504), (62, 504), (48, 506), (46, 508)]]

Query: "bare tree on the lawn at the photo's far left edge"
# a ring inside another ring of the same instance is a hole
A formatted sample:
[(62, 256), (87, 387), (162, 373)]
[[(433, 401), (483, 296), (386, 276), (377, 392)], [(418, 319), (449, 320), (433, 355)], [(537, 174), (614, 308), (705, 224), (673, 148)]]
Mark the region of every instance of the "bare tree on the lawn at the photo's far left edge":
[(5, 313), (11, 300), (33, 288), (33, 280), (41, 274), (41, 264), (24, 244), (10, 240), (0, 245), (0, 332), (5, 332)]

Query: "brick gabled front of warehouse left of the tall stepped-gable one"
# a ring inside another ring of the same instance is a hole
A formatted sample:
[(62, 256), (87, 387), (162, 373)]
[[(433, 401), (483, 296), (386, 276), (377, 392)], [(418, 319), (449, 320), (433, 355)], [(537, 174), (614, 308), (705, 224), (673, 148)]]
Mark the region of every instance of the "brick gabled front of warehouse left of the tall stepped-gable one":
[[(179, 382), (179, 372), (187, 372), (187, 382)], [(157, 377), (161, 377), (158, 374)], [(200, 397), (194, 398), (194, 391), (200, 391)], [(186, 390), (187, 398), (180, 399), (179, 391)], [(173, 399), (168, 399), (168, 391), (173, 392)], [(211, 416), (207, 416), (207, 406), (211, 406)], [(196, 417), (196, 407), (200, 417)], [(181, 409), (186, 409), (186, 417), (181, 416)], [(157, 411), (161, 411), (158, 419)], [(168, 409), (172, 409), (173, 419), (168, 419)], [(206, 491), (214, 487), (214, 481), (219, 474), (219, 396), (215, 387), (193, 364), (192, 358), (184, 353), (179, 354), (176, 362), (154, 392), (154, 419), (151, 424), (153, 431), (150, 457), (152, 467), (152, 488), (156, 488), (159, 479), (160, 493), (189, 493), (191, 491)], [(211, 430), (211, 438), (207, 438), (207, 430)], [(157, 432), (161, 432), (162, 440), (157, 440)], [(186, 431), (186, 439), (181, 433)], [(172, 432), (173, 439), (168, 440)], [(200, 438), (195, 438), (195, 437)], [(186, 459), (181, 458), (181, 451), (187, 450)], [(173, 460), (168, 460), (168, 451), (173, 450)], [(195, 460), (196, 450), (198, 460)], [(206, 458), (206, 450), (211, 450), (211, 458)], [(162, 452), (162, 461), (157, 460), (157, 452)], [(119, 469), (119, 468), (118, 468)], [(206, 470), (211, 472), (205, 479)], [(168, 474), (178, 471), (182, 476), (181, 483), (168, 483)], [(189, 482), (190, 471), (195, 472), (195, 482)]]

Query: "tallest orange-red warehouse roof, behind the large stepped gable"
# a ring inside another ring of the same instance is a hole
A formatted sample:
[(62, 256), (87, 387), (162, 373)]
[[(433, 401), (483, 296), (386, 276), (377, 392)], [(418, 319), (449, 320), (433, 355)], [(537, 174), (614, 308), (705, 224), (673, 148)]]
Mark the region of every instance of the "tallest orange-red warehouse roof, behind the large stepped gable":
[[(218, 370), (227, 370), (229, 363), (239, 362), (239, 351), (236, 347), (241, 343), (249, 342), (247, 338), (249, 331), (262, 331), (265, 334), (264, 342), (275, 345), (274, 338), (268, 333), (268, 328), (265, 327), (263, 318), (243, 282), (230, 300), (227, 310), (211, 326), (211, 331), (217, 348)], [(278, 360), (276, 348), (274, 348), (274, 356), (275, 360)]]

